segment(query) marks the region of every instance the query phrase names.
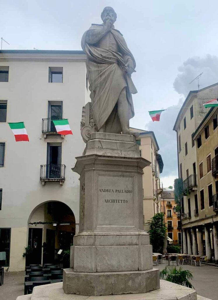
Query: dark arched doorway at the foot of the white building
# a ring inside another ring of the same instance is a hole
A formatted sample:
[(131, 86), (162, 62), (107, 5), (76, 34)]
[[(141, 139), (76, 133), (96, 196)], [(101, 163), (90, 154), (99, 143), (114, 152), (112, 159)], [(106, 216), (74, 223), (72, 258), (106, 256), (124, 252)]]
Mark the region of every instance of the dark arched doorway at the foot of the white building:
[(49, 201), (37, 206), (29, 217), (28, 227), (26, 265), (60, 262), (62, 254), (73, 244), (75, 217), (63, 202)]

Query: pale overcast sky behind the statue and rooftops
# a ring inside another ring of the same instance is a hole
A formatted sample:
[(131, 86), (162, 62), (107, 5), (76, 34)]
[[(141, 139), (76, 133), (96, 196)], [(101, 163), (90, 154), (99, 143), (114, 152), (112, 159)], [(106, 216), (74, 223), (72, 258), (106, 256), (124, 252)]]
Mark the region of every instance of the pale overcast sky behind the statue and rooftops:
[[(1, 0), (0, 36), (3, 49), (80, 50), (91, 23), (101, 23), (105, 6), (117, 13), (115, 28), (136, 60), (132, 79), (135, 117), (130, 125), (153, 130), (164, 161), (162, 181), (178, 176), (176, 116), (199, 73), (200, 88), (218, 82), (218, 1), (176, 0)], [(148, 110), (166, 110), (160, 122)], [(143, 113), (145, 112), (145, 113)]]

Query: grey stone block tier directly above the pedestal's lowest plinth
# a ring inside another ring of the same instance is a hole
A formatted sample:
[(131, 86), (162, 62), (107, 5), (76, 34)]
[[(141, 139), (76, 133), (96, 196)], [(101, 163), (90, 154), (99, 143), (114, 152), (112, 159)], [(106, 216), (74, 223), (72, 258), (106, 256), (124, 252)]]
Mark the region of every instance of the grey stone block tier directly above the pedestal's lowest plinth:
[(73, 247), (74, 272), (142, 271), (153, 266), (151, 245)]

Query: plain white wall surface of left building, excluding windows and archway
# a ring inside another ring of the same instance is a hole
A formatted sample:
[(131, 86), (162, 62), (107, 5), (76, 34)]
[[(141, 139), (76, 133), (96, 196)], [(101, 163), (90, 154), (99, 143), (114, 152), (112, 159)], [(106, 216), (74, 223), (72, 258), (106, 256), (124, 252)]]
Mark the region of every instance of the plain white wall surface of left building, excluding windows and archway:
[[(0, 123), (0, 142), (5, 142), (4, 167), (0, 168), (3, 189), (0, 228), (10, 227), (10, 271), (20, 270), (27, 243), (28, 218), (39, 204), (58, 200), (66, 203), (79, 223), (79, 175), (71, 168), (84, 150), (80, 135), (82, 107), (88, 99), (85, 62), (0, 61), (9, 65), (9, 82), (0, 82), (0, 100), (7, 100), (7, 122), (25, 122), (29, 142), (16, 142), (7, 123)], [(48, 68), (63, 67), (63, 83), (48, 83)], [(73, 136), (44, 139), (42, 118), (48, 117), (48, 101), (63, 101), (63, 118), (69, 120)], [(47, 142), (62, 143), (65, 182), (42, 186), (40, 165), (46, 164)], [(19, 247), (16, 245), (18, 236)], [(17, 254), (16, 254), (17, 253)], [(19, 258), (19, 259), (18, 259)]]

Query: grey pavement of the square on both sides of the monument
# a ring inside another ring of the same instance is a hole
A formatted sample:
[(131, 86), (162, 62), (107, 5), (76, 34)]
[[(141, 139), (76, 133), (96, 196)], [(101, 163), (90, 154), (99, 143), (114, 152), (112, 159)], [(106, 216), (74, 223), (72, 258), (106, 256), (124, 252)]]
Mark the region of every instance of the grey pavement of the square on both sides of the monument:
[[(157, 267), (163, 270), (165, 265), (159, 264)], [(182, 266), (190, 270), (193, 274), (192, 285), (198, 295), (212, 300), (218, 300), (218, 268), (212, 265), (202, 265), (195, 267), (190, 265)], [(177, 267), (178, 268), (178, 267)], [(16, 297), (24, 294), (24, 271), (4, 273), (4, 284), (0, 286), (0, 300), (15, 300)]]

